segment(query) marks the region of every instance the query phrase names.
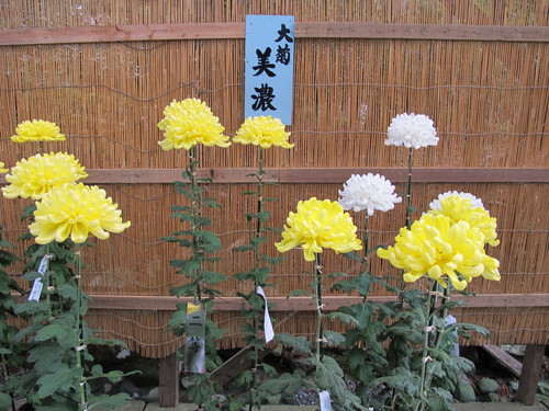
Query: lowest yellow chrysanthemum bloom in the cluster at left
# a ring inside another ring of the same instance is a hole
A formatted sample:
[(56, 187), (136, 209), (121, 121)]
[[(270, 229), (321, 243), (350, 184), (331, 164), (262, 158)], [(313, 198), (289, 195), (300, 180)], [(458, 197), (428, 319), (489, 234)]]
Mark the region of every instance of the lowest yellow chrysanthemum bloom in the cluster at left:
[(61, 242), (69, 237), (82, 243), (90, 235), (105, 240), (109, 232), (122, 232), (130, 227), (130, 221), (122, 222), (121, 214), (104, 190), (82, 183), (65, 184), (36, 202), (34, 222), (29, 228), (38, 244)]

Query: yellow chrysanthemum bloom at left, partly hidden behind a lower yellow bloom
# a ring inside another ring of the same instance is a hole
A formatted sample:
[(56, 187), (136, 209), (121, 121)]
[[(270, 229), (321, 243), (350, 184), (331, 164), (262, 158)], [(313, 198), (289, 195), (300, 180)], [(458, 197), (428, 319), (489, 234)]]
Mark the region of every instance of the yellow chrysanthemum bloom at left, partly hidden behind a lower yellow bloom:
[(36, 155), (18, 161), (5, 180), (11, 183), (2, 189), (7, 198), (40, 199), (52, 187), (86, 179), (85, 168), (72, 155), (56, 152)]

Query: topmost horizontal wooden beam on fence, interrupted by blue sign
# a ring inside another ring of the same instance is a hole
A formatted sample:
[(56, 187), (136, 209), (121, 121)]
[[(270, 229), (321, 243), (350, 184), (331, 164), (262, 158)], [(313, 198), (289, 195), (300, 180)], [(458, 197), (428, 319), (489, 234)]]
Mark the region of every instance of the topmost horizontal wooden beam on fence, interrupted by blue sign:
[[(141, 41), (244, 38), (245, 23), (181, 23), (3, 28), (0, 46)], [(547, 26), (296, 22), (298, 38), (549, 42)]]

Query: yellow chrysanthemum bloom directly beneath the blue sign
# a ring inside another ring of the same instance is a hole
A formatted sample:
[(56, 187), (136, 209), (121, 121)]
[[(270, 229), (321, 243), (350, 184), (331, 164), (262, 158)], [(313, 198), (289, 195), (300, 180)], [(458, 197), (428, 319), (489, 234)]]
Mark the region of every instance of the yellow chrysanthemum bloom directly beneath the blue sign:
[(270, 115), (248, 117), (236, 132), (233, 141), (242, 145), (251, 144), (261, 148), (271, 146), (292, 148), (293, 144), (288, 142), (290, 133), (287, 133), (284, 127), (280, 118), (272, 118)]

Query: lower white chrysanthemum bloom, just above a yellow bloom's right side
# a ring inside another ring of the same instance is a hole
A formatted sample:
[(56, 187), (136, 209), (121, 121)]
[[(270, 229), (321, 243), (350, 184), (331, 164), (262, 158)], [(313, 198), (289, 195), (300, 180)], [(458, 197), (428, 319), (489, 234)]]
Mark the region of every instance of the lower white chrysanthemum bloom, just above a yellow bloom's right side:
[(369, 216), (379, 209), (389, 212), (394, 208), (395, 203), (402, 198), (394, 193), (394, 185), (383, 175), (368, 173), (366, 175), (352, 174), (339, 191), (341, 198), (338, 199), (344, 209), (361, 212), (366, 209)]

